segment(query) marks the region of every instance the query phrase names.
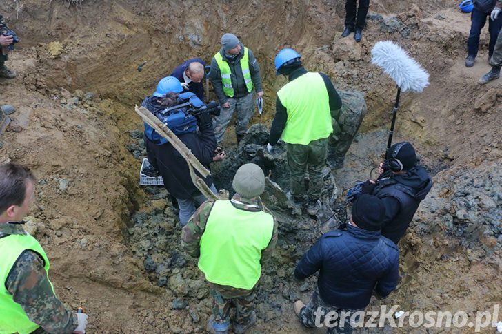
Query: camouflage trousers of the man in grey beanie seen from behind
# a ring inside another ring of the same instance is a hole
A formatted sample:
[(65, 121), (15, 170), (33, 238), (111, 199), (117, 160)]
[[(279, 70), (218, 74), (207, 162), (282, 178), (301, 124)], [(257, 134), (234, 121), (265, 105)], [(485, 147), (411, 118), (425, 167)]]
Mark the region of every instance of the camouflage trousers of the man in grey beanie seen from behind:
[[(254, 310), (254, 290), (251, 290), (247, 295), (240, 295), (239, 297), (234, 297), (230, 291), (219, 289), (211, 289), (210, 293), (214, 322), (230, 324), (231, 318), (237, 324), (247, 324), (250, 321), (252, 311)], [(235, 308), (234, 317), (231, 316), (232, 306)]]

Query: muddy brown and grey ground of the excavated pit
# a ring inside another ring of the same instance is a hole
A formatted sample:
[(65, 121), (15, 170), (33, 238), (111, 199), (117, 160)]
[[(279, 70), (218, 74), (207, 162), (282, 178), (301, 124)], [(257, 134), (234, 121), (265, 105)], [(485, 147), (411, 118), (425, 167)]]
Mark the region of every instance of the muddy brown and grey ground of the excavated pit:
[[(385, 39), (409, 50), (431, 84), (423, 94), (404, 94), (396, 130), (417, 147), (435, 185), (399, 244), (404, 277), (385, 303), (472, 316), (501, 302), (502, 85), (476, 84), (490, 68), (488, 32), (476, 65), (463, 66), (470, 21), (452, 1), (374, 0), (359, 44), (339, 38), (343, 1), (86, 0), (75, 8), (6, 0), (0, 13), (22, 40), (8, 62), (17, 79), (0, 80), (0, 104), (17, 107), (0, 137), (0, 160), (37, 174), (30, 229), (51, 259), (58, 295), (87, 309), (88, 333), (205, 331), (208, 290), (179, 247), (167, 194), (138, 185), (142, 124), (133, 107), (183, 59), (210, 61), (224, 32), (254, 51), (263, 72), (265, 114), (253, 123), (270, 127), (275, 92), (285, 83), (273, 58), (283, 47), (296, 48), (309, 70), (329, 74), (337, 87), (365, 92), (368, 115), (345, 167), (334, 171), (340, 191), (368, 178), (385, 148), (394, 85), (370, 65), (370, 50)], [(224, 143), (236, 149), (232, 129)], [(217, 187), (228, 185), (223, 174), (215, 177)], [(315, 279), (296, 282), (292, 271), (320, 233), (280, 228), (254, 333), (305, 332), (292, 302), (306, 302)], [(385, 328), (410, 331), (451, 329)]]

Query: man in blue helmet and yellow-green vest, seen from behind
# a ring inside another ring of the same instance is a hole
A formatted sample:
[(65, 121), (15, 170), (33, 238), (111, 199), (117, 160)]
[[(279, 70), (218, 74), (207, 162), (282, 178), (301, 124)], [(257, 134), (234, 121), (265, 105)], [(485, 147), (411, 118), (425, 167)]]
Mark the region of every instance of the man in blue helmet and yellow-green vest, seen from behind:
[(279, 138), (288, 144), (291, 199), (303, 205), (306, 197), (307, 212), (314, 216), (321, 209), (323, 169), (333, 132), (332, 113), (341, 108), (342, 101), (331, 79), (321, 72), (308, 72), (295, 50), (279, 51), (275, 67), (277, 74), (288, 76), (289, 82), (277, 92), (267, 149), (273, 154)]

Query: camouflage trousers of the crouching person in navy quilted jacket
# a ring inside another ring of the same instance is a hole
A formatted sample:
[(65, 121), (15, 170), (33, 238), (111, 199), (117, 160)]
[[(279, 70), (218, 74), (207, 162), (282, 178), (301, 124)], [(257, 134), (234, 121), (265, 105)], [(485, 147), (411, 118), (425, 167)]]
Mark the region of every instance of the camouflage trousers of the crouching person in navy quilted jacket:
[[(363, 311), (363, 309), (341, 309), (325, 303), (321, 295), (319, 295), (319, 289), (316, 284), (316, 289), (312, 294), (310, 302), (300, 311), (299, 319), (305, 327), (327, 326), (328, 334), (350, 334), (354, 331), (354, 328), (350, 324), (350, 315), (357, 311)], [(331, 314), (328, 315), (330, 312)], [(336, 312), (337, 315), (334, 315), (333, 312)], [(332, 320), (326, 319), (326, 315), (328, 315), (328, 319)], [(340, 323), (339, 320), (341, 319), (343, 319), (343, 322)]]

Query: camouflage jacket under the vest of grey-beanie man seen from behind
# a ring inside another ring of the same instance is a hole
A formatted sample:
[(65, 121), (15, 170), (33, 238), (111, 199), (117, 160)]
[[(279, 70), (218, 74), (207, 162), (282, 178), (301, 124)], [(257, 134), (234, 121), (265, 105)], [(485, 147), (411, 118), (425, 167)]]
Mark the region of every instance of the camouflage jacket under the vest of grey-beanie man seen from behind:
[[(263, 202), (261, 202), (261, 198), (257, 198), (256, 200), (246, 200), (241, 198), (239, 194), (235, 194), (232, 197), (232, 200), (236, 200), (243, 204), (238, 204), (236, 202), (232, 202), (234, 207), (238, 209), (243, 209), (246, 211), (265, 211), (266, 213), (272, 212), (268, 210)], [(194, 258), (199, 257), (200, 255), (200, 244), (202, 235), (205, 230), (205, 225), (208, 222), (209, 214), (212, 209), (212, 205), (214, 204), (214, 200), (208, 200), (203, 202), (203, 204), (195, 211), (193, 216), (188, 220), (188, 224), (183, 227), (183, 233), (181, 234), (181, 245), (183, 249)], [(272, 215), (273, 216), (273, 215)], [(263, 260), (267, 260), (272, 255), (275, 245), (277, 244), (277, 220), (274, 218), (274, 232), (272, 233), (272, 238), (268, 243), (266, 249), (263, 249), (261, 252), (261, 262)], [(210, 284), (213, 289), (217, 289), (223, 293), (223, 295), (228, 296), (239, 296), (249, 294), (249, 291), (243, 289), (235, 289), (231, 286), (219, 286), (217, 284)]]

